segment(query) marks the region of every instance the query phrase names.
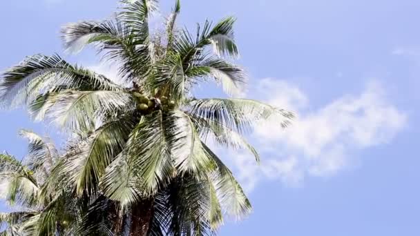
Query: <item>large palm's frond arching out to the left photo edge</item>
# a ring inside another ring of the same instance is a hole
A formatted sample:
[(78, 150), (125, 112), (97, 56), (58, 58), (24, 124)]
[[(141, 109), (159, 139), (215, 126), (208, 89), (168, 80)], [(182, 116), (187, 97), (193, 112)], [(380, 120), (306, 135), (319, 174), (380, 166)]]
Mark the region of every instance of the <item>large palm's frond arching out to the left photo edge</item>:
[(103, 75), (72, 66), (58, 55), (34, 55), (3, 73), (0, 105), (14, 108), (30, 104), (38, 95), (63, 89), (120, 90), (120, 86)]

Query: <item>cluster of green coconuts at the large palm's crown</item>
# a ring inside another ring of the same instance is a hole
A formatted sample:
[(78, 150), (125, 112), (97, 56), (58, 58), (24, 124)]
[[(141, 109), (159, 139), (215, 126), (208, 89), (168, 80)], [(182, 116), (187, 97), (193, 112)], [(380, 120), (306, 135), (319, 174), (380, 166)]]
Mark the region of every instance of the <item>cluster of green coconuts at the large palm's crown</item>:
[(144, 115), (153, 112), (153, 110), (171, 110), (175, 108), (175, 101), (166, 96), (160, 98), (149, 98), (140, 92), (133, 92), (134, 97), (137, 99), (137, 110)]

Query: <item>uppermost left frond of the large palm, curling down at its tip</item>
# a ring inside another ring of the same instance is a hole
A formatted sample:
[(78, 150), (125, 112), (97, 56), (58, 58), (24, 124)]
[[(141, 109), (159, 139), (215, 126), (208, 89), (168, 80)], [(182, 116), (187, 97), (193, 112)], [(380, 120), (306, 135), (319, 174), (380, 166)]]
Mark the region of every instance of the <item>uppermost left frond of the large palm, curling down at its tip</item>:
[(61, 32), (67, 50), (77, 52), (90, 43), (97, 46), (104, 59), (119, 66), (118, 74), (126, 82), (140, 82), (150, 69), (149, 32), (140, 37), (124, 18), (70, 23)]

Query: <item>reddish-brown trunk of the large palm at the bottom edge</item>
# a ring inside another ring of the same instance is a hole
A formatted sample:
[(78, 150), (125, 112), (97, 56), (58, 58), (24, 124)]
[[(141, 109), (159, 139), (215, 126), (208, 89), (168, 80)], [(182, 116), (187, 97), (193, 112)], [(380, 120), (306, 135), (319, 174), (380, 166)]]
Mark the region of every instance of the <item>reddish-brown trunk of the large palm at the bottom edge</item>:
[(153, 199), (143, 199), (131, 208), (131, 236), (146, 236), (153, 219)]

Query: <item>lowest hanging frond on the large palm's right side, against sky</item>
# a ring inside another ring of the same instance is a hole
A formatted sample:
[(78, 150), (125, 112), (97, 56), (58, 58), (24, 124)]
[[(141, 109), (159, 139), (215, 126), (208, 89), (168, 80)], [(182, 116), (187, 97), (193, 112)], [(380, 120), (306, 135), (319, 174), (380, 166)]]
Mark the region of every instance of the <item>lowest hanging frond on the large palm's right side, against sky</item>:
[(238, 181), (231, 173), (231, 170), (214, 154), (210, 148), (203, 144), (207, 154), (212, 157), (218, 166), (217, 170), (211, 175), (211, 179), (216, 188), (218, 199), (222, 209), (232, 217), (241, 219), (251, 213), (252, 206)]

